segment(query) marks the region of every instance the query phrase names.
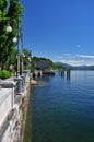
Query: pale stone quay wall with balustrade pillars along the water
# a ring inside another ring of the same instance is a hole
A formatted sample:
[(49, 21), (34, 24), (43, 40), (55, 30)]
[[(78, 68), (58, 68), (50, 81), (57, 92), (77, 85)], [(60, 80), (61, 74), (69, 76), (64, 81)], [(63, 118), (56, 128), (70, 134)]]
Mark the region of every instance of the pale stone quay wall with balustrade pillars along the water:
[(22, 76), (0, 80), (0, 142), (22, 142), (23, 99), (28, 94), (30, 72)]

